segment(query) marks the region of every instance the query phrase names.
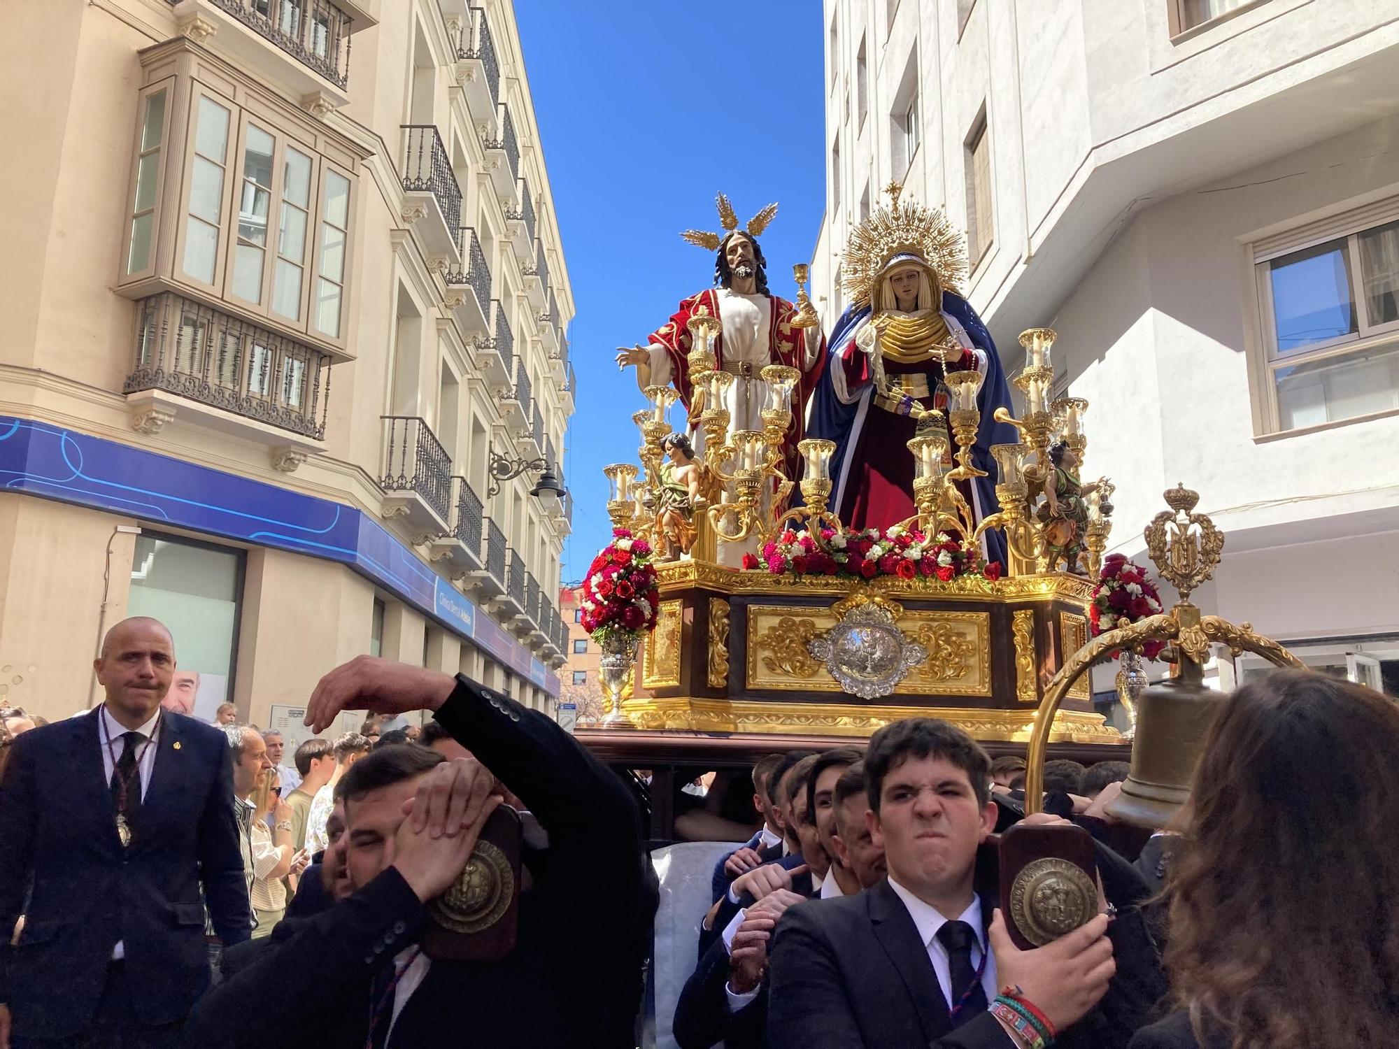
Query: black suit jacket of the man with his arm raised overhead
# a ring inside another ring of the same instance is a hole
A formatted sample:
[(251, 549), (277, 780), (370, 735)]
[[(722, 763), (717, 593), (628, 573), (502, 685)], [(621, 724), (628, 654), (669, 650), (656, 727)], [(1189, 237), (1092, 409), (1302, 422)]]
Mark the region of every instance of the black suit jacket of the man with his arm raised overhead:
[[(434, 962), (388, 1049), (635, 1045), (656, 883), (631, 792), (548, 718), (466, 678), (436, 718), (529, 806), (548, 849), (530, 864), (509, 958)], [(613, 905), (588, 904), (597, 899)], [(360, 1049), (374, 975), (425, 920), (386, 869), (210, 990), (186, 1025), (189, 1043), (241, 1049), (248, 1003), (274, 1000), (278, 1008), (259, 1017), (260, 1046)]]

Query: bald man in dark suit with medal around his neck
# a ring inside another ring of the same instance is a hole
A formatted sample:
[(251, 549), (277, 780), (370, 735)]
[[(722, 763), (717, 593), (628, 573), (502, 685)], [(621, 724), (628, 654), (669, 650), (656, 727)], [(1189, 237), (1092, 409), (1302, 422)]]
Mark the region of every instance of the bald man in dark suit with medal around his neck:
[(125, 620), (94, 667), (102, 706), (21, 736), (0, 789), (0, 1043), (14, 1049), (172, 1045), (208, 986), (206, 904), (225, 944), (249, 934), (228, 743), (161, 709), (169, 631)]

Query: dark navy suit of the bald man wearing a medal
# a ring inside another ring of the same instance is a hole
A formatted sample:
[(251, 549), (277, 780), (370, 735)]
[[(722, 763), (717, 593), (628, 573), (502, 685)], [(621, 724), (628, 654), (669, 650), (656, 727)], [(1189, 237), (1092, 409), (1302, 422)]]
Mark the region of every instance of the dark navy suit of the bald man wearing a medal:
[[(222, 732), (166, 711), (130, 848), (116, 836), (101, 711), (14, 741), (0, 790), (0, 1001), (20, 1038), (66, 1038), (92, 1017), (120, 940), (140, 1022), (183, 1018), (208, 985), (204, 908), (225, 944), (250, 919), (234, 771)], [(24, 891), (32, 878), (28, 906)], [(203, 895), (200, 888), (203, 887)]]

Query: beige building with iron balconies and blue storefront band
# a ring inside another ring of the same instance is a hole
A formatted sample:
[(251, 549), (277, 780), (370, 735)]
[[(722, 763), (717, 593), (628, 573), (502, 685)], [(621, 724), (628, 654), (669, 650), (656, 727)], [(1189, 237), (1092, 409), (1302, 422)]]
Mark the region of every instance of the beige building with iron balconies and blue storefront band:
[(290, 725), (362, 652), (550, 709), (574, 301), (509, 0), (0, 28), (6, 699), (90, 705), (151, 614), (200, 713)]

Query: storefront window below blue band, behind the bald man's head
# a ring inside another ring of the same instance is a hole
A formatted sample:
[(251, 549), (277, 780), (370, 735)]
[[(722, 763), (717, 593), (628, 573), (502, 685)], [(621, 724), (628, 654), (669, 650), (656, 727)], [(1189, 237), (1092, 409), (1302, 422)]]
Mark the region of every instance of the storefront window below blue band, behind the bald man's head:
[(234, 694), (243, 554), (173, 536), (136, 538), (127, 615), (159, 620), (175, 639), (166, 705), (203, 722)]

